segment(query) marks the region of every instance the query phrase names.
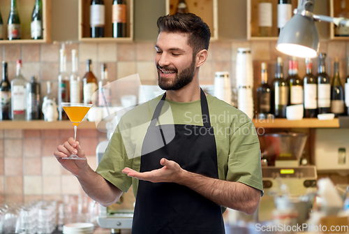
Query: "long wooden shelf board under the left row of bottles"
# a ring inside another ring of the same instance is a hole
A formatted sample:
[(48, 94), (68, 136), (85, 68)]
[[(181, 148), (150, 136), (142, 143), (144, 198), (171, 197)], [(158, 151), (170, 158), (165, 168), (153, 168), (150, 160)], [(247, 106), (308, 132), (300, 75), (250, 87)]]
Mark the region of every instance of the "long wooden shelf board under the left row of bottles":
[[(105, 124), (100, 123), (101, 126)], [(98, 124), (98, 126), (100, 125)], [(47, 122), (44, 120), (32, 121), (12, 121), (4, 120), (0, 122), (0, 129), (72, 129), (73, 124), (69, 120)], [(77, 129), (97, 129), (95, 122), (83, 121)]]

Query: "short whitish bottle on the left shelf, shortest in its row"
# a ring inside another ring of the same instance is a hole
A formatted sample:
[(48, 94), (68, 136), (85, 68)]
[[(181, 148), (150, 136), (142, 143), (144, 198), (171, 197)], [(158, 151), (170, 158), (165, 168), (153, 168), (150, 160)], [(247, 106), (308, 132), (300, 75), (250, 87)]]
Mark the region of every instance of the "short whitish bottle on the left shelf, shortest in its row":
[[(54, 121), (58, 119), (57, 100), (52, 93), (52, 82), (46, 82), (47, 94), (43, 97), (43, 119)], [(50, 110), (49, 110), (50, 109)]]

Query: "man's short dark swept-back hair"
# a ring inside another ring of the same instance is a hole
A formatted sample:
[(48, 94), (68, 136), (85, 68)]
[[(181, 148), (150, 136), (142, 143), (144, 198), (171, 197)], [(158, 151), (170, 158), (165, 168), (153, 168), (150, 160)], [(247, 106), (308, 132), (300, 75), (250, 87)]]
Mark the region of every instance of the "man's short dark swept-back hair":
[(193, 13), (177, 13), (158, 18), (158, 33), (161, 31), (170, 33), (189, 34), (188, 45), (193, 48), (193, 56), (200, 50), (209, 49), (211, 31), (202, 19)]

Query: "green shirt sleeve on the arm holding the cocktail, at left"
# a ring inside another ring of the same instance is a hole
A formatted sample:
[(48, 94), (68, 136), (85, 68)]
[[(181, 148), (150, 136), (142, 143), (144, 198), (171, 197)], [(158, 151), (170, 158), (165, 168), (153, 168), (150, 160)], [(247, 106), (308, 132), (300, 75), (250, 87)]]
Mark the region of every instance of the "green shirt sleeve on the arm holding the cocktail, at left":
[(131, 187), (132, 178), (122, 173), (121, 170), (125, 167), (132, 168), (132, 164), (133, 159), (128, 159), (119, 126), (117, 126), (117, 131), (113, 133), (96, 173), (126, 193)]

